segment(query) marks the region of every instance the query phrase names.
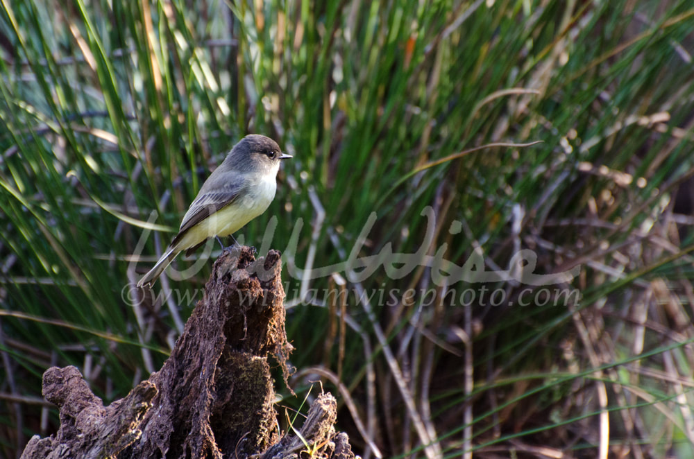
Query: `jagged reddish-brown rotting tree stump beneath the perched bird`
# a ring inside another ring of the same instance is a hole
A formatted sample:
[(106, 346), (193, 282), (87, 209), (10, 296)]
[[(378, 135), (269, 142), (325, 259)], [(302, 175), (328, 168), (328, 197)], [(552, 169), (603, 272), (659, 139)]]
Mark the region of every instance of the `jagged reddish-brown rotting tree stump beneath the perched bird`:
[(22, 458), (354, 458), (330, 394), (314, 401), (301, 437), (276, 429), (268, 356), (286, 383), (292, 350), (280, 270), (274, 250), (258, 260), (249, 248), (224, 252), (162, 369), (110, 406), (75, 367), (46, 370), (60, 429), (34, 436)]

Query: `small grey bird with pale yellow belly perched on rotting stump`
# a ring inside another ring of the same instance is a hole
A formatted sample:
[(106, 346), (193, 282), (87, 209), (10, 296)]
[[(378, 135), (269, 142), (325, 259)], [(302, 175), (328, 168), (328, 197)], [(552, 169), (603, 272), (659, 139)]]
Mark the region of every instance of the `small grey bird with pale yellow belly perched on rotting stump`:
[(228, 236), (262, 214), (275, 197), (280, 159), (291, 158), (264, 135), (247, 135), (205, 180), (178, 234), (138, 287), (152, 286), (183, 250), (190, 254), (214, 236)]

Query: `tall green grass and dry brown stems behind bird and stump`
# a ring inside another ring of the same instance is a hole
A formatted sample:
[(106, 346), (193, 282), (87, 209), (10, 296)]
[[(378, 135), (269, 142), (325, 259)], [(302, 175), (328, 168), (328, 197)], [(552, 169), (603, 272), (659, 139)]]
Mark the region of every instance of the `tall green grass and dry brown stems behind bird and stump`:
[[(0, 456), (56, 428), (47, 367), (106, 403), (158, 369), (211, 261), (133, 284), (258, 132), (294, 155), (237, 235), (284, 252), (280, 428), (321, 380), (365, 458), (694, 457), (691, 1), (0, 5)], [(579, 275), (305, 275), (384, 248)]]

